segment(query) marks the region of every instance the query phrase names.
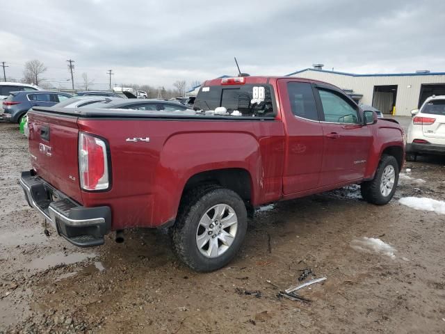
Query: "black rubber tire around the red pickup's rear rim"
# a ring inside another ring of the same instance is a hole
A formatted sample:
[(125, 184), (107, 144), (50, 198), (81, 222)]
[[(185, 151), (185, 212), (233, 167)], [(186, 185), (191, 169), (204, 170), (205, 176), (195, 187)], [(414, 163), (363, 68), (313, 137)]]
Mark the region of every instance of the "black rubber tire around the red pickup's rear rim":
[[(243, 200), (232, 190), (216, 185), (200, 186), (188, 192), (181, 202), (172, 230), (172, 246), (179, 259), (194, 271), (208, 272), (224, 267), (238, 252), (247, 230), (247, 211)], [(231, 246), (218, 257), (205, 257), (197, 247), (196, 233), (201, 217), (214, 205), (226, 204), (234, 209), (238, 227)]]

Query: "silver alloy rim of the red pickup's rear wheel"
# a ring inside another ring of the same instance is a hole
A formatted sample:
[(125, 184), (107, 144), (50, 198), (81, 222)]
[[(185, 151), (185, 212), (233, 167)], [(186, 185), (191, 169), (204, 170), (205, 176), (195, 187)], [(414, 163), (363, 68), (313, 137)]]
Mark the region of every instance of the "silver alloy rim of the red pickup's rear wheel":
[(196, 230), (196, 245), (205, 257), (218, 257), (232, 246), (238, 228), (234, 209), (214, 205), (201, 217)]

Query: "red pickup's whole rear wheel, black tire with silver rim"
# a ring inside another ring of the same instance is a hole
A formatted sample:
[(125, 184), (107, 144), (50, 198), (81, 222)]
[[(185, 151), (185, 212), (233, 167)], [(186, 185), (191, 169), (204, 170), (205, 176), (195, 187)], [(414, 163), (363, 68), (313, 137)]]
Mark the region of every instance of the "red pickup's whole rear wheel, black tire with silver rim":
[(220, 269), (245, 237), (244, 202), (234, 191), (218, 186), (204, 186), (186, 196), (172, 233), (175, 253), (195, 271)]

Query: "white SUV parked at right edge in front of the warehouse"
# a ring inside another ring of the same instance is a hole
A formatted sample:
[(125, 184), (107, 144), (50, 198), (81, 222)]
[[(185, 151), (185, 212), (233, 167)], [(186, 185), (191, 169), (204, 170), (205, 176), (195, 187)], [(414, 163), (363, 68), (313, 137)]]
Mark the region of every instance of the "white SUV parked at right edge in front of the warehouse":
[(421, 109), (412, 111), (408, 128), (406, 159), (417, 155), (445, 154), (445, 95), (428, 97)]

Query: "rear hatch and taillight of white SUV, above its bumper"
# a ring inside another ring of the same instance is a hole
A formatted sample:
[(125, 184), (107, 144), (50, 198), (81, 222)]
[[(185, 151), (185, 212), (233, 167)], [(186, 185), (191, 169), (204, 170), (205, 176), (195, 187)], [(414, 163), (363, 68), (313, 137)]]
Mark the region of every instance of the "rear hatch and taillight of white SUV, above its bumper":
[(416, 116), (426, 118), (422, 123), (423, 136), (445, 140), (445, 100), (431, 100)]

